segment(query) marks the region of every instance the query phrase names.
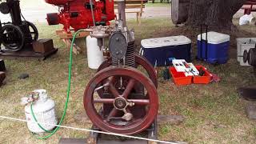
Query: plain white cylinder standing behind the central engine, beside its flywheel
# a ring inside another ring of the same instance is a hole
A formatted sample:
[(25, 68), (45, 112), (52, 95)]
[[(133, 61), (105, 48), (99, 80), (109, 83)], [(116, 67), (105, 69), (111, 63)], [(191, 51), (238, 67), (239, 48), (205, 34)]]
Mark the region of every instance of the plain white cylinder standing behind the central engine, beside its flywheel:
[(86, 37), (87, 61), (90, 69), (98, 69), (104, 61), (103, 51), (99, 49), (97, 38)]

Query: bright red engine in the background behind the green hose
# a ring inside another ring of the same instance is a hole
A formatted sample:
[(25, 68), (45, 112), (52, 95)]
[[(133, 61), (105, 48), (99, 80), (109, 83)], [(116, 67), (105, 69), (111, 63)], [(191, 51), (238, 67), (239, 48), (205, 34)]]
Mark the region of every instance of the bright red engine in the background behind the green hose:
[(47, 3), (59, 7), (59, 13), (47, 14), (49, 25), (64, 25), (63, 29), (70, 32), (70, 26), (74, 30), (87, 28), (88, 26), (110, 25), (115, 18), (114, 0), (91, 0), (94, 21), (91, 13), (90, 0), (45, 0)]

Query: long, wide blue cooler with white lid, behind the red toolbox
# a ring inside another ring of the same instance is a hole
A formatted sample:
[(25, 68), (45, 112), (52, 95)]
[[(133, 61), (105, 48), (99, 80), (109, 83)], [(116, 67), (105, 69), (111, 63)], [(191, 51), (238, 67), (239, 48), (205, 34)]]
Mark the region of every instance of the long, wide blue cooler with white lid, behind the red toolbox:
[(143, 39), (140, 54), (153, 66), (170, 66), (174, 58), (191, 62), (191, 40), (183, 35)]

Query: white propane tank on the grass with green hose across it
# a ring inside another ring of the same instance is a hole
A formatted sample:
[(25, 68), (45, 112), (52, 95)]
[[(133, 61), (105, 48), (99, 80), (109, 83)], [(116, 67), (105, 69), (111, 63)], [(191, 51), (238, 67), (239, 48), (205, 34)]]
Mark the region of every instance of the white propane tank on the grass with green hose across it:
[[(34, 112), (35, 118), (38, 120), (39, 123), (43, 122), (43, 123), (40, 123), (40, 125), (44, 129), (53, 130), (55, 127), (53, 125), (58, 124), (57, 118), (55, 116), (54, 101), (48, 98), (46, 90), (34, 90), (32, 93), (37, 93), (39, 96), (38, 100), (33, 102), (33, 112)], [(27, 100), (29, 100), (29, 98), (27, 98)], [(24, 98), (22, 98), (22, 101), (24, 102)], [(26, 115), (27, 126), (31, 132), (34, 132), (36, 134), (42, 134), (45, 132), (38, 126), (38, 123), (34, 121), (34, 118), (30, 110), (30, 104), (27, 104), (25, 106), (25, 115)]]

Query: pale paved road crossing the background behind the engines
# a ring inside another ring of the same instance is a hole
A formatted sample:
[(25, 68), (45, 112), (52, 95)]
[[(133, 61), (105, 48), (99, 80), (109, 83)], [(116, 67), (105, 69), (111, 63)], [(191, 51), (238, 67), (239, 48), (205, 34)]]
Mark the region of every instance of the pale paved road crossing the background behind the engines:
[[(44, 2), (44, 0), (22, 0), (21, 1), (22, 14), (26, 20), (30, 22), (46, 22), (47, 13), (58, 12), (58, 6), (52, 6)], [(242, 16), (243, 11), (239, 10), (234, 18)], [(256, 14), (254, 13), (255, 17)], [(170, 6), (167, 7), (146, 7), (142, 18), (156, 18), (156, 17), (170, 17), (171, 10)], [(127, 19), (136, 18), (135, 14), (127, 14)], [(10, 21), (9, 14), (0, 14), (2, 22)]]

